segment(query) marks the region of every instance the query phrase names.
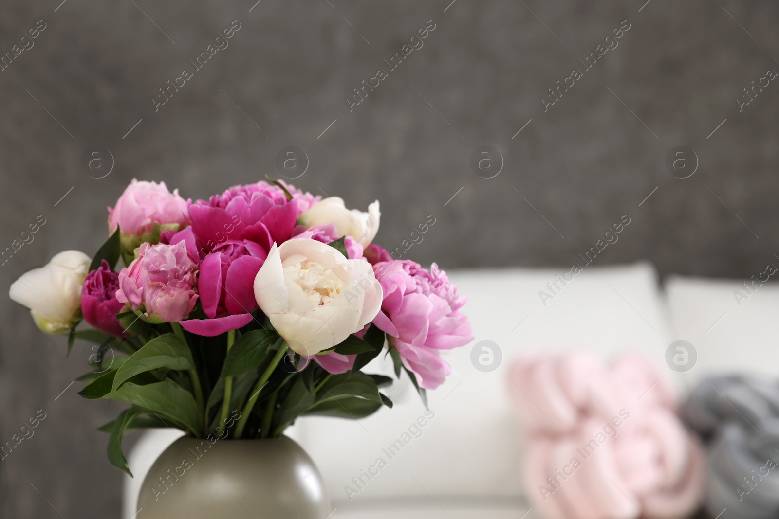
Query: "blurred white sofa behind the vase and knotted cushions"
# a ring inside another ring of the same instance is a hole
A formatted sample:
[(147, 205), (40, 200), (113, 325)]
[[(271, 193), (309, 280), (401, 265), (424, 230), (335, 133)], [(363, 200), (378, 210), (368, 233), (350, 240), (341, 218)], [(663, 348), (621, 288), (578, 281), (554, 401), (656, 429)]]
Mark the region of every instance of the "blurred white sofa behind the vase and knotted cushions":
[[(390, 388), (393, 409), (358, 422), (298, 420), (289, 435), (323, 473), (337, 509), (333, 519), (523, 517), (528, 505), (520, 481), (520, 437), (506, 384), (513, 359), (533, 349), (587, 348), (608, 357), (628, 348), (663, 366), (668, 345), (684, 339), (695, 346), (698, 364), (688, 373), (668, 369), (680, 391), (713, 370), (770, 372), (777, 365), (779, 349), (770, 341), (779, 324), (770, 317), (779, 310), (779, 287), (763, 286), (739, 306), (733, 291), (741, 282), (674, 277), (663, 292), (648, 263), (585, 268), (555, 289), (562, 272), (449, 272), (470, 298), (464, 310), (475, 340), (445, 353), (453, 373), (428, 392), (435, 417), (358, 494), (349, 496), (345, 486), (355, 488), (352, 478), (379, 456), (386, 458), (382, 449), (425, 412), (413, 387), (404, 378)], [(542, 290), (552, 298), (542, 300)], [(471, 363), (471, 349), (484, 340), (502, 351), (502, 363), (488, 373)], [(376, 359), (373, 372), (390, 374), (385, 362)], [(138, 486), (151, 463), (179, 435), (151, 431), (134, 447), (129, 465), (136, 479), (125, 481), (125, 519), (136, 513)], [(534, 510), (524, 517), (534, 517)]]

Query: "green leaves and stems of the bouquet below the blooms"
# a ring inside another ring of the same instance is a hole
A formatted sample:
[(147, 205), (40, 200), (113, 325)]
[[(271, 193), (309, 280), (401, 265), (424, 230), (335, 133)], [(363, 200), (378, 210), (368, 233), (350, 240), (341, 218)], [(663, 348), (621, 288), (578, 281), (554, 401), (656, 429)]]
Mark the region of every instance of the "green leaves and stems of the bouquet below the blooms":
[[(333, 246), (344, 247), (343, 240)], [(118, 258), (119, 230), (100, 247), (91, 268), (103, 259), (113, 267)], [(69, 349), (75, 338), (99, 345), (93, 370), (79, 378), (87, 382), (79, 395), (130, 405), (100, 427), (111, 434), (109, 461), (128, 474), (122, 453), (122, 437), (128, 430), (173, 427), (191, 437), (273, 438), (299, 416), (360, 419), (382, 405), (393, 405), (379, 391), (392, 379), (363, 373), (362, 368), (387, 346), (397, 377), (405, 369), (392, 338), (388, 342), (374, 325), (363, 338), (350, 335), (322, 352), (356, 355), (351, 370), (332, 374), (288, 349), (259, 309), (244, 328), (216, 337), (190, 334), (178, 323), (149, 324), (132, 311), (117, 317), (131, 338), (74, 328)], [(426, 405), (425, 390), (413, 373), (407, 373)], [(228, 415), (238, 419), (227, 419)]]

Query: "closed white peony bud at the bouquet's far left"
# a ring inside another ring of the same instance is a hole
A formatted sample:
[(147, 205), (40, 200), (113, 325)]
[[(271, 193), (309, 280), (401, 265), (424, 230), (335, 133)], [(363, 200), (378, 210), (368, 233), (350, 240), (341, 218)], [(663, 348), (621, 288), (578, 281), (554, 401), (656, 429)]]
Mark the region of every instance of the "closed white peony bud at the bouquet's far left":
[(30, 309), (41, 330), (68, 331), (81, 309), (81, 289), (90, 261), (83, 252), (62, 251), (47, 265), (33, 268), (13, 282), (9, 296)]

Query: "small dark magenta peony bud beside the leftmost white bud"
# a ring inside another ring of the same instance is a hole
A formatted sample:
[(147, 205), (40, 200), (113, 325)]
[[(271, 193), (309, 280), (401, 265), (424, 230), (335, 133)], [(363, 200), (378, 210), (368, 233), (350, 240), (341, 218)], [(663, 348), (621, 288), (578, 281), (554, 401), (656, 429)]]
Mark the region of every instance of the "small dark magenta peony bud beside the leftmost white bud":
[(81, 290), (81, 311), (84, 321), (93, 328), (113, 337), (129, 337), (116, 318), (116, 314), (125, 307), (116, 299), (118, 288), (118, 273), (108, 267), (108, 261), (103, 260), (100, 267), (86, 275)]

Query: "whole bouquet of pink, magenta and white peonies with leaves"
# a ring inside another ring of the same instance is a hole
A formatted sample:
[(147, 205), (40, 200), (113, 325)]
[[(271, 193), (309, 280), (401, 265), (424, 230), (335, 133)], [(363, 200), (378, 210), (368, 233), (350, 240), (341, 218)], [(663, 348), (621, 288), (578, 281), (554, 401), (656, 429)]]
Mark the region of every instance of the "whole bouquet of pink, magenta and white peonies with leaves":
[(384, 349), (425, 400), (451, 371), (439, 349), (472, 339), (465, 298), (435, 263), (371, 243), (379, 202), (350, 210), (281, 181), (192, 202), (133, 180), (108, 214), (94, 258), (61, 252), (10, 296), (67, 334), (68, 351), (76, 338), (99, 345), (79, 395), (130, 404), (100, 428), (125, 472), (129, 429), (272, 438), (298, 416), (392, 407), (379, 391), (392, 379), (362, 371)]

